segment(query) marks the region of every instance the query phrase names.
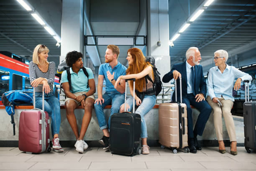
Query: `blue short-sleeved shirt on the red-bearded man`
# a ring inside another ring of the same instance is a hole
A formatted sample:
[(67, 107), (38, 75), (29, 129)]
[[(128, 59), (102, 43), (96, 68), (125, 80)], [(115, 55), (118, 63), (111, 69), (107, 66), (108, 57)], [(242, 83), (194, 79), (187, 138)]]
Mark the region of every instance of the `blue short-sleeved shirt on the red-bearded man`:
[(112, 69), (109, 63), (101, 64), (99, 68), (99, 75), (103, 75), (106, 82), (106, 92), (118, 92), (114, 85), (108, 80), (107, 71), (110, 71), (111, 74), (115, 72), (114, 79), (117, 80), (121, 75), (126, 74), (126, 67), (123, 66), (120, 62)]

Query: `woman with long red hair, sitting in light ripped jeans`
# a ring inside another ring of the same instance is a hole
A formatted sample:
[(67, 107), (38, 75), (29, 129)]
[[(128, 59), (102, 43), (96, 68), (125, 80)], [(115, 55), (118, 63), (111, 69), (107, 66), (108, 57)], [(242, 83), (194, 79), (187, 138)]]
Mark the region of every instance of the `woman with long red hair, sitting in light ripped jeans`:
[[(133, 94), (133, 81), (128, 81), (131, 95), (134, 96), (136, 105), (138, 106), (135, 113), (141, 115), (141, 139), (142, 139), (142, 154), (149, 154), (149, 147), (147, 145), (147, 127), (144, 119), (146, 115), (156, 104), (156, 92), (153, 83), (147, 78), (154, 80), (153, 67), (142, 51), (138, 48), (130, 48), (127, 52), (128, 69), (126, 75), (118, 77), (115, 82), (115, 87), (119, 84), (121, 79), (136, 79), (135, 94)], [(147, 83), (146, 83), (147, 82)], [(144, 97), (143, 97), (144, 96)], [(127, 111), (131, 112), (133, 109), (133, 97), (128, 98)], [(124, 104), (120, 107), (120, 112), (124, 111)]]

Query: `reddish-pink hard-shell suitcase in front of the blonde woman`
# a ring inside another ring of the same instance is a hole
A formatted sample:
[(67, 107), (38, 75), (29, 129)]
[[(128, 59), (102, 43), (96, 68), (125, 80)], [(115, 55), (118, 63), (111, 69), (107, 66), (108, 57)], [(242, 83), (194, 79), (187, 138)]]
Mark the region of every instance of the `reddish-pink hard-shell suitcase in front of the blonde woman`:
[(43, 153), (51, 151), (49, 138), (49, 115), (35, 107), (35, 90), (33, 91), (34, 109), (20, 112), (19, 149), (26, 153)]

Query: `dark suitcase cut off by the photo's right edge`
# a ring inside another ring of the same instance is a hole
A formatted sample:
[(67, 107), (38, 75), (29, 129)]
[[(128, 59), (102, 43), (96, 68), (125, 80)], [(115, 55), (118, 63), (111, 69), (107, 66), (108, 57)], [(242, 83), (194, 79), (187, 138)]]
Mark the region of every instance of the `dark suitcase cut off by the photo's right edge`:
[[(247, 86), (246, 86), (247, 83)], [(249, 102), (249, 81), (245, 80), (245, 102), (243, 103), (244, 147), (248, 153), (256, 150), (256, 101)], [(246, 98), (248, 89), (248, 100)]]

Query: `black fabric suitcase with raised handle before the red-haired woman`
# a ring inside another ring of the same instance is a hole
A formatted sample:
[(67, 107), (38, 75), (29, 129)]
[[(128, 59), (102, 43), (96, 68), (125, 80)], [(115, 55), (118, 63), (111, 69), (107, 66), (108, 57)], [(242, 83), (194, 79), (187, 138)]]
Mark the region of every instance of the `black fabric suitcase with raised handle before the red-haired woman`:
[[(133, 80), (133, 94), (135, 93), (135, 79), (125, 80), (125, 111), (127, 80)], [(133, 156), (141, 154), (141, 115), (134, 113), (135, 100), (133, 97), (133, 112), (114, 113), (110, 117), (110, 145), (111, 153)]]

